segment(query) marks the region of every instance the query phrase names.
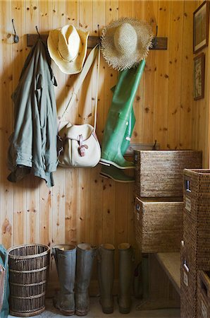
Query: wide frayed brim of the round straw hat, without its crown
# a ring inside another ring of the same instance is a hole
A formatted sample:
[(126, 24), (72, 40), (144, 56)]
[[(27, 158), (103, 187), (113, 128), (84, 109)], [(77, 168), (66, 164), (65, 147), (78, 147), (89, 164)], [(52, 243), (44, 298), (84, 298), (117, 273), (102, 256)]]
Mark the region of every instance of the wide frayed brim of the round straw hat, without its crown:
[[(130, 53), (126, 55), (118, 52), (114, 44), (114, 33), (118, 26), (123, 23), (130, 23), (130, 25), (135, 28), (137, 34), (137, 47), (135, 52), (132, 52), (131, 48)], [(112, 66), (113, 69), (117, 69), (118, 71), (123, 71), (123, 69), (130, 69), (139, 64), (142, 59), (147, 57), (149, 48), (152, 47), (153, 38), (152, 26), (148, 23), (134, 18), (121, 18), (102, 30), (101, 52), (109, 66)]]

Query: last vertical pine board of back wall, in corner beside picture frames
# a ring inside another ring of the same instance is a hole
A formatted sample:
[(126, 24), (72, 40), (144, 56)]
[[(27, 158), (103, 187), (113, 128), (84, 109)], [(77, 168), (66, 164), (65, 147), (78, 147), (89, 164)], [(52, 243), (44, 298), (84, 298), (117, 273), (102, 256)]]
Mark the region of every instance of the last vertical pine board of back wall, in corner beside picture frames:
[[(181, 103), (180, 103), (180, 144), (183, 149), (192, 148), (192, 104), (193, 104), (193, 11), (194, 1), (184, 2), (183, 11), (183, 54), (181, 65)], [(194, 120), (194, 119), (193, 119)], [(186, 125), (186, 122), (188, 123)]]

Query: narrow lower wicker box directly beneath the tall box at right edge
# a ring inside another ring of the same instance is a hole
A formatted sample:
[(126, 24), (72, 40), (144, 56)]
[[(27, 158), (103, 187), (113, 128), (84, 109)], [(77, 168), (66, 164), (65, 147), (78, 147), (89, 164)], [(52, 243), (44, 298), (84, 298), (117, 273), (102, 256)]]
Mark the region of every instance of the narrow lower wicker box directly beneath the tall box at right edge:
[(180, 254), (181, 318), (197, 318), (197, 269), (194, 269), (193, 266), (191, 266), (185, 246), (181, 246)]

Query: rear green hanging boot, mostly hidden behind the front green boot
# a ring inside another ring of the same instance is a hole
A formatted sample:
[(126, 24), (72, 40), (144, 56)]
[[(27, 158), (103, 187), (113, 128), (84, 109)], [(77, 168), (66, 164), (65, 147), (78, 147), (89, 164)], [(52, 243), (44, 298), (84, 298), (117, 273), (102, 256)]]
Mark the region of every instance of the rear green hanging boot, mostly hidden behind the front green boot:
[[(125, 131), (123, 143), (121, 145), (122, 155), (124, 155), (128, 149), (134, 125), (135, 125), (135, 114), (134, 114), (134, 111), (132, 109), (132, 112), (130, 114), (130, 118), (128, 121), (128, 126), (127, 126), (127, 129)], [(109, 165), (109, 166), (102, 165), (100, 175), (101, 175), (101, 177), (111, 178), (116, 182), (125, 182), (125, 183), (135, 182), (134, 177), (130, 177), (129, 175), (125, 175), (125, 173), (123, 172), (122, 169), (119, 169), (119, 168), (115, 167), (114, 165)]]

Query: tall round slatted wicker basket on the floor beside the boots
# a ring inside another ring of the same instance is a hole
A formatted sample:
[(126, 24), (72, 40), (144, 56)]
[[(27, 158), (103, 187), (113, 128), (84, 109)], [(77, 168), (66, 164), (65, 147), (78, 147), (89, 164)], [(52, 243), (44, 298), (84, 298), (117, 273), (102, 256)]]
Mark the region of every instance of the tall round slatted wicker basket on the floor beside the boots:
[(31, 317), (44, 311), (49, 247), (19, 245), (8, 249), (10, 312)]

